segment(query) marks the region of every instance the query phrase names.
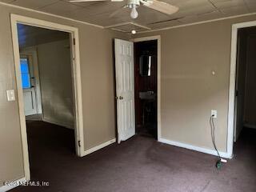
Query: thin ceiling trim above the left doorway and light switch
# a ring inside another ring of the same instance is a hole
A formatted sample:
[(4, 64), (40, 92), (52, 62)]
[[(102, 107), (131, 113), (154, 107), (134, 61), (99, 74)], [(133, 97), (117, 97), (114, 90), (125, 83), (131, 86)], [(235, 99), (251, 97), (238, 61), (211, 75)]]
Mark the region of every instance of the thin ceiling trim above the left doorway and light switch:
[(21, 10), (29, 10), (29, 11), (32, 11), (32, 12), (35, 12), (35, 13), (38, 13), (38, 14), (46, 14), (46, 15), (49, 15), (49, 16), (52, 16), (52, 17), (55, 17), (55, 18), (63, 18), (63, 19), (69, 20), (71, 22), (79, 22), (79, 23), (82, 23), (82, 24), (85, 24), (85, 25), (88, 25), (88, 26), (95, 26), (95, 27), (104, 29), (103, 26), (98, 26), (98, 25), (92, 24), (90, 22), (82, 22), (80, 20), (73, 19), (73, 18), (66, 18), (66, 17), (60, 16), (58, 14), (49, 14), (49, 13), (46, 13), (46, 12), (43, 12), (43, 11), (40, 11), (40, 10), (33, 10), (33, 9), (26, 8), (26, 7), (23, 7), (23, 6), (15, 6), (15, 5), (6, 3), (6, 2), (0, 2), (0, 5), (10, 6), (10, 7), (14, 7), (14, 8), (21, 9)]

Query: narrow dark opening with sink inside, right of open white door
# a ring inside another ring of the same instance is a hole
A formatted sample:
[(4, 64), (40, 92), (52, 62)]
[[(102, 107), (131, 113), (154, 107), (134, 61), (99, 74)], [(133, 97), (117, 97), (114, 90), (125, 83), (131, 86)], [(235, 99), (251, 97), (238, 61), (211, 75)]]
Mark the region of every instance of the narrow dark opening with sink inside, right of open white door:
[(136, 133), (158, 138), (158, 41), (134, 43)]

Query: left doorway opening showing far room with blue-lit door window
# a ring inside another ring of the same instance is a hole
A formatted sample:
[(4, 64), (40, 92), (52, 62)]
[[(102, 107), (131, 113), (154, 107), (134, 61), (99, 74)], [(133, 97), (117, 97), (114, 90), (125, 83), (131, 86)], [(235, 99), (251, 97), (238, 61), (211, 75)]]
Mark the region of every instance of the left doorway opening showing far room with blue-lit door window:
[(31, 180), (42, 181), (42, 162), (50, 167), (46, 157), (64, 160), (62, 154), (76, 153), (70, 34), (25, 24), (17, 28)]

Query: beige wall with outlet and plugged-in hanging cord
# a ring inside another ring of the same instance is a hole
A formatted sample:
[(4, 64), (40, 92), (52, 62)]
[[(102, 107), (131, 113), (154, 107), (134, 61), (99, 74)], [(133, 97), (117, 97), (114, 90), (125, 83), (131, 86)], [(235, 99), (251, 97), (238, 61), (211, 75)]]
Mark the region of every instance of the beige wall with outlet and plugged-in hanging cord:
[(214, 109), (217, 146), (226, 152), (231, 25), (251, 20), (256, 16), (135, 36), (161, 35), (162, 138), (213, 150), (209, 119)]

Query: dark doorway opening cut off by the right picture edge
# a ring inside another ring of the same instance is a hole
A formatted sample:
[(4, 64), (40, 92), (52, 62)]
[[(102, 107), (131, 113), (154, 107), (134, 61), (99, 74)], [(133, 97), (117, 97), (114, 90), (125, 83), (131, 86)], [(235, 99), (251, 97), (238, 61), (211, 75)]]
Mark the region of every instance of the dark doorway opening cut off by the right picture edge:
[(243, 129), (256, 128), (256, 26), (238, 30), (237, 49), (234, 142)]

